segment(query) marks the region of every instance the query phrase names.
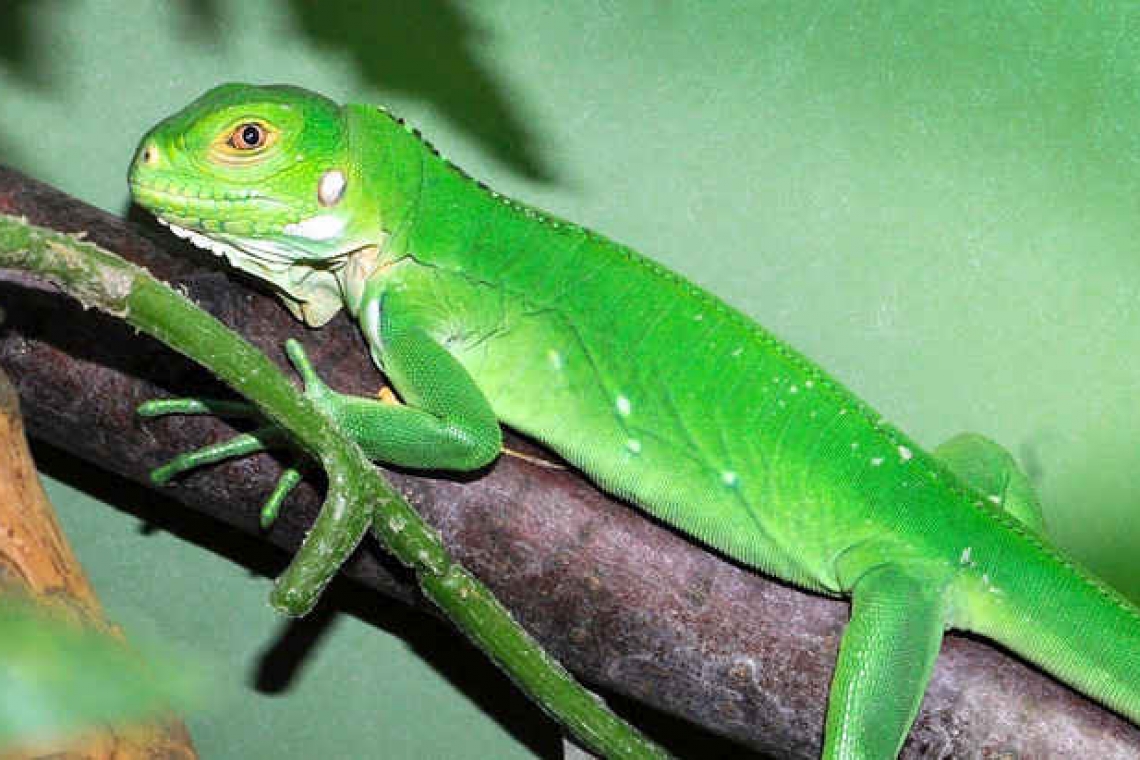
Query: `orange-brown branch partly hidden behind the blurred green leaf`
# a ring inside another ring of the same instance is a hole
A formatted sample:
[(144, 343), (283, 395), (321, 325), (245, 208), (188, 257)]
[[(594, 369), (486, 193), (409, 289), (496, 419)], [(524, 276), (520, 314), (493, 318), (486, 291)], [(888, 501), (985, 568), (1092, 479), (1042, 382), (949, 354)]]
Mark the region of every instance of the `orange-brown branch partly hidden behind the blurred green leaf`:
[[(27, 450), (16, 392), (0, 373), (0, 594), (32, 598), (52, 614), (121, 638), (103, 618), (83, 569), (59, 529)], [(5, 760), (192, 760), (181, 721), (107, 727), (81, 739), (3, 753)]]

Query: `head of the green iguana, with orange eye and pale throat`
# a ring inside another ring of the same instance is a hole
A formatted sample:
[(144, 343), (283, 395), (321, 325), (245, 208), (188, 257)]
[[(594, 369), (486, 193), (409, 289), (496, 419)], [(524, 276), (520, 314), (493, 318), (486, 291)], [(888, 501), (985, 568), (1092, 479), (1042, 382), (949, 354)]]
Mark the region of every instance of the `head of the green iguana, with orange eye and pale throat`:
[(142, 138), (131, 195), (174, 234), (271, 283), (294, 314), (321, 325), (342, 304), (335, 270), (381, 236), (342, 114), (299, 88), (214, 88)]

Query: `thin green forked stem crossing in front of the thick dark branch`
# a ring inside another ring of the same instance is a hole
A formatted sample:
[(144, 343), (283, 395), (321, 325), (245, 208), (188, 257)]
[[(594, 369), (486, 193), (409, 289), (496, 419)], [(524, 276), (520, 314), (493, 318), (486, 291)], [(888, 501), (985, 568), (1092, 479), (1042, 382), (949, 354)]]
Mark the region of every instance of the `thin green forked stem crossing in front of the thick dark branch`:
[(312, 531), (277, 579), (270, 602), (308, 612), (372, 526), (413, 567), (424, 594), (544, 710), (608, 758), (667, 753), (610, 712), (511, 618), (491, 593), (455, 563), (439, 536), (381, 476), (353, 442), (299, 393), (282, 371), (145, 270), (74, 236), (0, 214), (0, 267), (44, 277), (87, 307), (125, 319), (209, 368), (250, 399), (328, 473), (328, 495)]

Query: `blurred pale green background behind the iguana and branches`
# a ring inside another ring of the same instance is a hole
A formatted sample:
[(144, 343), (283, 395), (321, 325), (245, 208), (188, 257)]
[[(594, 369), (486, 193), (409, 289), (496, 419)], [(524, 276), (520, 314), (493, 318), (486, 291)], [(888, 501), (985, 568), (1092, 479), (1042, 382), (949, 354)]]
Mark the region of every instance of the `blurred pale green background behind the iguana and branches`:
[[(138, 137), (228, 80), (385, 104), (925, 444), (991, 435), (1057, 540), (1140, 598), (1134, 3), (6, 0), (0, 160), (125, 212)], [(434, 623), (349, 593), (283, 623), (277, 557), (43, 456), (111, 614), (220, 663), (204, 757), (555, 757)]]

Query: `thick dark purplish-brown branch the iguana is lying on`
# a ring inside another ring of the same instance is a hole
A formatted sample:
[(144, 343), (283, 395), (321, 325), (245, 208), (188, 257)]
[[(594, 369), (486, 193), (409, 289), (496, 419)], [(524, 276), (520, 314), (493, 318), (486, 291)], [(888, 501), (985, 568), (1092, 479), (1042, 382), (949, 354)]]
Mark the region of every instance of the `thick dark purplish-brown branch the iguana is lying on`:
[[(0, 211), (82, 230), (185, 286), (279, 361), (284, 338), (298, 336), (334, 387), (377, 389), (380, 378), (343, 317), (307, 332), (271, 297), (207, 268), (212, 262), (204, 267), (197, 252), (173, 239), (156, 244), (139, 228), (10, 171), (0, 170)], [(213, 419), (135, 417), (136, 404), (156, 394), (218, 392), (202, 370), (154, 342), (13, 276), (0, 281), (0, 305), (8, 312), (0, 367), (15, 377), (33, 435), (146, 482), (147, 471), (168, 457), (228, 434)], [(254, 457), (164, 491), (256, 533), (258, 507), (278, 472), (271, 457)], [(586, 679), (777, 757), (817, 757), (845, 603), (705, 551), (572, 472), (503, 457), (467, 482), (391, 477), (456, 556)], [(294, 547), (317, 504), (311, 488), (301, 489), (264, 539)], [(408, 579), (373, 551), (359, 551), (345, 572), (415, 598)], [(951, 636), (904, 757), (1134, 758), (1140, 732), (1013, 657)]]

